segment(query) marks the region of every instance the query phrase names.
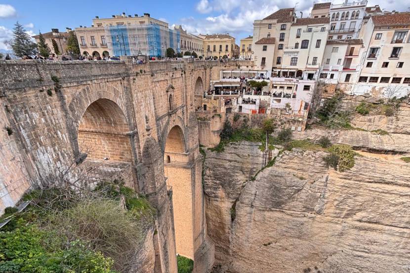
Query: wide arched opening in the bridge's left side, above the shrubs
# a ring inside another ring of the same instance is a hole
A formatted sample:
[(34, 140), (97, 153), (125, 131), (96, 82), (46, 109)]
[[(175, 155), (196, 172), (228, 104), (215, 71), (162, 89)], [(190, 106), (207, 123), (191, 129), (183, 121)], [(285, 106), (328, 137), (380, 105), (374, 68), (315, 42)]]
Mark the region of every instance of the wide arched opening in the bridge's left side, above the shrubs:
[(80, 153), (88, 178), (95, 183), (121, 179), (134, 186), (130, 130), (121, 108), (108, 99), (98, 99), (85, 110), (78, 127)]

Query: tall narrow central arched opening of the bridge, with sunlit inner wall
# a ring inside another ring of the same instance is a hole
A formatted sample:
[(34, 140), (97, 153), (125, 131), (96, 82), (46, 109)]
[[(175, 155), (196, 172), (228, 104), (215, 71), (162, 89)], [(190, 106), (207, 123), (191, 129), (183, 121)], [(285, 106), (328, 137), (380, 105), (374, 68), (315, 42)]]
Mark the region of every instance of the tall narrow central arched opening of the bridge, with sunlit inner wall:
[(166, 137), (164, 175), (167, 186), (172, 187), (176, 252), (194, 259), (192, 169), (188, 161), (184, 133), (175, 125)]

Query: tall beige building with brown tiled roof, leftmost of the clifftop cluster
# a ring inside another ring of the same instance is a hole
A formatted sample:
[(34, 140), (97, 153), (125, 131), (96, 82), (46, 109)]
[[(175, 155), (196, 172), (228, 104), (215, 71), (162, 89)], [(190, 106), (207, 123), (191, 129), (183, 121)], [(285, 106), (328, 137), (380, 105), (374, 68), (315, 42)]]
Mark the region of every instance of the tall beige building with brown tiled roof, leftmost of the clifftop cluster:
[[(283, 52), (289, 39), (290, 25), (294, 20), (294, 15), (294, 8), (283, 8), (262, 20), (253, 22), (253, 48), (255, 43), (262, 38), (275, 38), (276, 47), (273, 52), (272, 62), (265, 63), (266, 70), (272, 71), (282, 66)], [(255, 53), (252, 58), (255, 64), (261, 64), (261, 58), (263, 57)]]

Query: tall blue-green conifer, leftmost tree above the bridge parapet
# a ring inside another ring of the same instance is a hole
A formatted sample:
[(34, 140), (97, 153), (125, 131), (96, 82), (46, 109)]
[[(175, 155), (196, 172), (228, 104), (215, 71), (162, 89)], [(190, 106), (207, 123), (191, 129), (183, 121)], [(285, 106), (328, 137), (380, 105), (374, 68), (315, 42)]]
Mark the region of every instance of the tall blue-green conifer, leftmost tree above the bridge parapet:
[(35, 55), (37, 44), (31, 40), (22, 25), (17, 22), (14, 26), (13, 39), (7, 41), (7, 44), (13, 49), (14, 55), (20, 58)]

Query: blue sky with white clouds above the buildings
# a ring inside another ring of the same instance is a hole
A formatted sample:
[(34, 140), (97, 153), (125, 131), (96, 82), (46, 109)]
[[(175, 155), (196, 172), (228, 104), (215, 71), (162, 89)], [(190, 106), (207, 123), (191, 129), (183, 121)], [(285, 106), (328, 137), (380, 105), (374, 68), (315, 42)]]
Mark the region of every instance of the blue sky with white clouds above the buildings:
[[(16, 21), (30, 35), (65, 31), (66, 27), (91, 26), (92, 18), (108, 18), (125, 12), (127, 15), (150, 13), (170, 26), (182, 25), (192, 34), (229, 33), (240, 39), (252, 35), (253, 21), (262, 19), (279, 8), (295, 7), (303, 17), (309, 16), (314, 2), (326, 0), (0, 0), (0, 49), (12, 37)], [(333, 0), (341, 3), (344, 0)], [(351, 1), (351, 0), (349, 0)], [(379, 4), (382, 9), (409, 11), (409, 0), (369, 0), (368, 6)]]

